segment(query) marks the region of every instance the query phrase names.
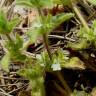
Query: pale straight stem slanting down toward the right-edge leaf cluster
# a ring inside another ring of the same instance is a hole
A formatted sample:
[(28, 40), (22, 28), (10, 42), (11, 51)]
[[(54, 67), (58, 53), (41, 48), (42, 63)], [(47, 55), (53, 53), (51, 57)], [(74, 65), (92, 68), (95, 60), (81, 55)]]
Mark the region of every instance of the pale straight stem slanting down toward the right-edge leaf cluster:
[(82, 23), (83, 26), (86, 28), (86, 30), (89, 32), (89, 31), (90, 31), (90, 28), (88, 27), (87, 22), (85, 21), (85, 19), (84, 19), (83, 16), (81, 15), (80, 10), (78, 9), (77, 5), (76, 5), (74, 2), (72, 2), (72, 6), (73, 6), (73, 9), (74, 9), (76, 15), (77, 15), (78, 18), (80, 19), (81, 23)]

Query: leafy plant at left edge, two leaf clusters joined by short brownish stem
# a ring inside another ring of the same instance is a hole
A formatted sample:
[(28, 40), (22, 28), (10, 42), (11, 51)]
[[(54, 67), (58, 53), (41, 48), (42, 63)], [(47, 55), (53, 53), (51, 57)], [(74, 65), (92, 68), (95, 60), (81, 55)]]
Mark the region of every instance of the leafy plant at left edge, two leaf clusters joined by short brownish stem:
[(6, 36), (5, 47), (7, 48), (6, 55), (1, 61), (2, 67), (6, 66), (6, 70), (8, 70), (9, 61), (12, 58), (16, 61), (23, 61), (26, 56), (20, 53), (20, 49), (23, 46), (23, 40), (19, 35), (16, 34), (16, 37), (11, 37), (14, 27), (20, 22), (20, 20), (16, 17), (11, 21), (8, 21), (6, 18), (6, 14), (4, 11), (0, 11), (0, 34), (1, 37)]

